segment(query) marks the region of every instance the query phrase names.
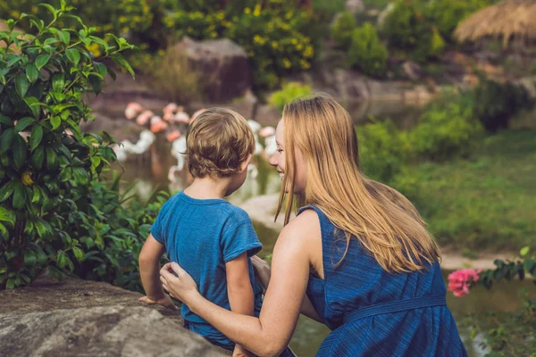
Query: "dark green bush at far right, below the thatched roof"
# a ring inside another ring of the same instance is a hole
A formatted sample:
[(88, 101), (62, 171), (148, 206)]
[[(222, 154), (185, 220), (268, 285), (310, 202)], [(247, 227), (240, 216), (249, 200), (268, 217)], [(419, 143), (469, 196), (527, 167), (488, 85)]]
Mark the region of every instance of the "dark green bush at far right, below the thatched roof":
[(481, 79), (474, 88), (474, 115), (490, 132), (506, 129), (509, 120), (522, 109), (531, 109), (533, 100), (521, 86)]

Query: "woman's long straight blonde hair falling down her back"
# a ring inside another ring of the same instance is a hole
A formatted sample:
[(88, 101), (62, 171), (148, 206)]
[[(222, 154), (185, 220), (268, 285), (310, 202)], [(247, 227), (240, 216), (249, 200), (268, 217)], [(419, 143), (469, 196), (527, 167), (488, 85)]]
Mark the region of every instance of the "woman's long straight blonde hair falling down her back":
[[(329, 95), (304, 97), (283, 110), (285, 176), (277, 214), (287, 198), (285, 224), (293, 203), (312, 204), (344, 232), (357, 239), (384, 270), (415, 271), (440, 259), (440, 248), (423, 219), (404, 195), (367, 179), (359, 167), (356, 130), (348, 112)], [(306, 189), (293, 195), (295, 152), (306, 163)], [(276, 217), (277, 218), (277, 217)]]

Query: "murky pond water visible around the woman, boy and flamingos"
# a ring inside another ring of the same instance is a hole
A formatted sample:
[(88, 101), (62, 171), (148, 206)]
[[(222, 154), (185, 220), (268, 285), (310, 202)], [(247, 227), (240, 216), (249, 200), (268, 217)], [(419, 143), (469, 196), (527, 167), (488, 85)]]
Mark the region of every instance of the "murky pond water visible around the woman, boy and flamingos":
[[(385, 108), (383, 109), (385, 110)], [(402, 122), (401, 127), (406, 127), (406, 125), (412, 125), (415, 122), (416, 112), (419, 112), (418, 108), (410, 108), (406, 112), (397, 113), (394, 111), (393, 113), (396, 115), (392, 118), (397, 120), (398, 123)], [(364, 116), (359, 116), (359, 118), (360, 120), (365, 120)], [(379, 118), (381, 119), (381, 116)], [(150, 195), (155, 184), (171, 193), (177, 192), (188, 185), (188, 179), (184, 172), (180, 173), (176, 182), (170, 183), (168, 170), (173, 164), (176, 164), (176, 159), (169, 154), (171, 146), (165, 143), (165, 140), (158, 141), (156, 146), (151, 162), (130, 161), (123, 164), (124, 174), (122, 179), (126, 183), (137, 182), (135, 190), (141, 199)], [(277, 172), (263, 158), (255, 158), (255, 164), (258, 175), (255, 179), (248, 178), (243, 187), (240, 187), (237, 192), (230, 195), (228, 198), (230, 203), (240, 205), (252, 197), (279, 193), (281, 179)], [(273, 245), (278, 237), (278, 231), (268, 228), (260, 222), (254, 221), (254, 226), (258, 237), (264, 245), (263, 251), (259, 255), (266, 257), (272, 253)], [(445, 279), (447, 275), (448, 271), (444, 271)], [(484, 319), (485, 311), (515, 311), (520, 306), (518, 293), (521, 287), (526, 288), (529, 294), (536, 295), (536, 286), (533, 286), (528, 281), (499, 283), (490, 292), (482, 287), (477, 287), (472, 290), (470, 295), (463, 298), (456, 298), (448, 294), (448, 307), (454, 314), (460, 335), (470, 356), (480, 357), (486, 352), (479, 346), (482, 336), (477, 335), (473, 340), (469, 337), (471, 331), (469, 328), (465, 328), (463, 324), (466, 314), (475, 313)], [(330, 330), (322, 324), (302, 317), (297, 324), (290, 346), (298, 356), (314, 356), (322, 344), (322, 340), (329, 333)]]

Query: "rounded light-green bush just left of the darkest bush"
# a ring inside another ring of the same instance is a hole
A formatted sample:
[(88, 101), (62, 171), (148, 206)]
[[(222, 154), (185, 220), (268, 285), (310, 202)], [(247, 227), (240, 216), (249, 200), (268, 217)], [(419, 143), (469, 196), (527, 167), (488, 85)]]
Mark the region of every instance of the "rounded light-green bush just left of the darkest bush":
[(409, 133), (415, 154), (442, 161), (470, 153), (482, 136), (482, 125), (473, 117), (473, 101), (467, 94), (445, 94), (428, 105)]

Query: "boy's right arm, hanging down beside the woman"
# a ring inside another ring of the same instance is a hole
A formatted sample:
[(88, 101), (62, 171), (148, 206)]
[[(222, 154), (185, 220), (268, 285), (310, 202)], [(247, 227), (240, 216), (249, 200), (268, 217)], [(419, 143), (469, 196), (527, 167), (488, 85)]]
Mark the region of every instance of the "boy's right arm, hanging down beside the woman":
[[(230, 303), (230, 311), (243, 315), (253, 316), (255, 309), (255, 296), (253, 286), (249, 279), (249, 266), (247, 253), (242, 253), (235, 259), (225, 263), (227, 278), (227, 296)], [(237, 345), (233, 356), (253, 355), (245, 348)]]

